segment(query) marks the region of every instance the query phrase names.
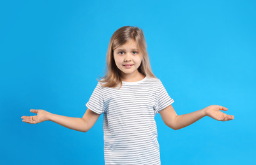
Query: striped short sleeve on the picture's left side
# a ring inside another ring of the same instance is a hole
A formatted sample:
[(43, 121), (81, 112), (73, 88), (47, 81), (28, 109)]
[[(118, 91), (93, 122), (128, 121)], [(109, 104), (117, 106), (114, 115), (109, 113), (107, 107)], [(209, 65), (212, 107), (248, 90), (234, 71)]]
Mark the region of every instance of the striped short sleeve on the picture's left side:
[(89, 101), (86, 103), (86, 107), (90, 110), (93, 110), (96, 114), (102, 114), (105, 110), (103, 95), (102, 95), (102, 86), (98, 82), (96, 88), (93, 91)]

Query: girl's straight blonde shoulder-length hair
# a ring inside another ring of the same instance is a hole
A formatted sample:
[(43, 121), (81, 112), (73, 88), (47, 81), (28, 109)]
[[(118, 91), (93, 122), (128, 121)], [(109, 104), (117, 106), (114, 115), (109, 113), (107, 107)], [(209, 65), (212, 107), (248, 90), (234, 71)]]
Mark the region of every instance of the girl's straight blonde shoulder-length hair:
[(151, 71), (149, 56), (146, 49), (147, 44), (142, 30), (139, 27), (124, 26), (117, 29), (110, 39), (109, 48), (107, 49), (107, 73), (101, 80), (98, 80), (100, 82), (104, 82), (102, 86), (115, 88), (120, 84), (121, 88), (121, 72), (116, 66), (113, 53), (114, 49), (122, 46), (130, 40), (134, 40), (137, 43), (139, 52), (142, 55), (142, 62), (138, 71), (147, 77), (155, 77)]

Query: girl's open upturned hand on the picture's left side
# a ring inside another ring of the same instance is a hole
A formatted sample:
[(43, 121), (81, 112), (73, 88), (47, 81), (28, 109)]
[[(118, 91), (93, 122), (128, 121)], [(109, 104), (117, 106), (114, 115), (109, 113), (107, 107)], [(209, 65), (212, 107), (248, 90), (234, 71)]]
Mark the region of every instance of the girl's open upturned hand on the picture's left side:
[(22, 116), (23, 122), (36, 124), (38, 122), (48, 121), (50, 112), (42, 109), (31, 109), (30, 112), (37, 114), (36, 116)]

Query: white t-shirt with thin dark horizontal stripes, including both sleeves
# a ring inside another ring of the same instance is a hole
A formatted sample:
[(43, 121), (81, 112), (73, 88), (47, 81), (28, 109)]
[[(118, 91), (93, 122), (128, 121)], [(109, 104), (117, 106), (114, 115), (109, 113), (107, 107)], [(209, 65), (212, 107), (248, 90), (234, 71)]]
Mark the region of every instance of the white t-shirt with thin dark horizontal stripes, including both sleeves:
[(161, 164), (154, 116), (173, 102), (157, 78), (120, 89), (98, 82), (86, 107), (103, 113), (105, 164)]

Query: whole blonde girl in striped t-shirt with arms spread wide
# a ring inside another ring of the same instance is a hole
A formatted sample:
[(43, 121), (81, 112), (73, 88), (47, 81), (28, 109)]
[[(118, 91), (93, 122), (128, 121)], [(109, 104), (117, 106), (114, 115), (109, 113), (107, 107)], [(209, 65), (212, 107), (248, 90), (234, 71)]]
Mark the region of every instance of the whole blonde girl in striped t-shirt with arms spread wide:
[(173, 102), (151, 71), (142, 30), (126, 26), (116, 30), (110, 39), (107, 74), (86, 103), (87, 110), (82, 118), (31, 109), (37, 116), (22, 116), (22, 119), (31, 124), (53, 121), (86, 132), (103, 113), (105, 164), (161, 164), (154, 121), (158, 113), (163, 122), (175, 130), (204, 116), (218, 121), (234, 119), (220, 112), (227, 108), (219, 105), (177, 116)]

